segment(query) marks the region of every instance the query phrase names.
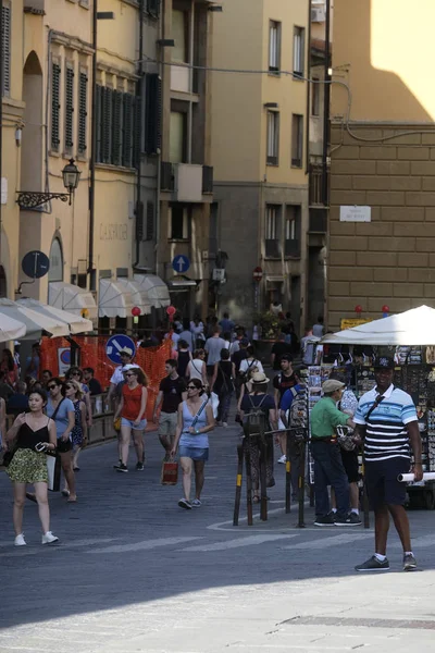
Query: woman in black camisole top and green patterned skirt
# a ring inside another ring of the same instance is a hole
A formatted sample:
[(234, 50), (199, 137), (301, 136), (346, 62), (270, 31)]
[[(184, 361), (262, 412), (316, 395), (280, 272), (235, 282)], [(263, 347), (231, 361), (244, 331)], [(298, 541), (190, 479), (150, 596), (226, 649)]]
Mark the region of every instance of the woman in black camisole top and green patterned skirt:
[(22, 412), (15, 419), (5, 438), (12, 448), (16, 439), (15, 452), (7, 468), (13, 483), (14, 507), (13, 523), (15, 546), (25, 546), (23, 534), (23, 509), (26, 501), (26, 485), (35, 486), (35, 496), (42, 526), (42, 544), (57, 542), (59, 538), (50, 531), (50, 510), (48, 506), (47, 451), (55, 451), (55, 424), (44, 415), (47, 395), (44, 390), (35, 390), (28, 398), (30, 412)]

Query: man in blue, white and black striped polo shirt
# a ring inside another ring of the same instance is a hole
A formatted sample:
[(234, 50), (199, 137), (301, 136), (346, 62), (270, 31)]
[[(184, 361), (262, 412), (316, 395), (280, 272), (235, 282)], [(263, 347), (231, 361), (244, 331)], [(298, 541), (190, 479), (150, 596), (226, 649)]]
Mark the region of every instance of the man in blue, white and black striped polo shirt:
[(353, 421), (356, 440), (364, 442), (365, 484), (375, 516), (375, 553), (357, 571), (389, 569), (386, 557), (389, 515), (403, 546), (403, 570), (415, 569), (411, 550), (408, 515), (403, 504), (406, 485), (397, 480), (411, 466), (410, 448), (414, 455), (412, 471), (415, 480), (423, 478), (421, 438), (415, 406), (409, 394), (393, 385), (395, 362), (391, 358), (376, 360), (376, 386), (360, 398)]

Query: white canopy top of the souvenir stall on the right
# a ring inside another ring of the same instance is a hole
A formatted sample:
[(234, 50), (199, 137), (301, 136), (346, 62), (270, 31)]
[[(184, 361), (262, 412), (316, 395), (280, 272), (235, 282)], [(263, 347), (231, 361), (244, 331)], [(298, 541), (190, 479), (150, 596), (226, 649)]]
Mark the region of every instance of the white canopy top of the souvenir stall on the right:
[(435, 309), (428, 306), (327, 333), (322, 343), (348, 345), (435, 345)]

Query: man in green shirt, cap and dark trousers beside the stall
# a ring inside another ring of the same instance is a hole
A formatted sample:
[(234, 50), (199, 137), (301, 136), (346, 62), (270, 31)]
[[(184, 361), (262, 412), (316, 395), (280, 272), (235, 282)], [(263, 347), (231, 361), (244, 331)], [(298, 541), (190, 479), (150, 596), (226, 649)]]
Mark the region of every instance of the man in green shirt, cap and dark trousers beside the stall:
[[(359, 526), (359, 515), (350, 513), (349, 482), (343, 467), (339, 444), (335, 433), (338, 426), (355, 428), (351, 418), (338, 410), (345, 384), (328, 379), (322, 385), (324, 396), (311, 410), (311, 455), (314, 459), (314, 526)], [(327, 486), (335, 490), (337, 513), (330, 512)]]

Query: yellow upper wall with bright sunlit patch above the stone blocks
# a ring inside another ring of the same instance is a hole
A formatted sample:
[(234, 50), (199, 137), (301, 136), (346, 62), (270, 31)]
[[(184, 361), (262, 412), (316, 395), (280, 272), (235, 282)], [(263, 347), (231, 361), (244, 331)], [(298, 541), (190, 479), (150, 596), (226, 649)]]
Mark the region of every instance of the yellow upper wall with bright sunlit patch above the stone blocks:
[[(334, 78), (350, 86), (351, 120), (430, 122), (433, 0), (336, 0)], [(349, 35), (358, 29), (358, 38)], [(347, 113), (347, 93), (333, 87), (332, 115)]]

